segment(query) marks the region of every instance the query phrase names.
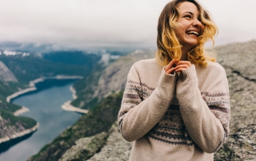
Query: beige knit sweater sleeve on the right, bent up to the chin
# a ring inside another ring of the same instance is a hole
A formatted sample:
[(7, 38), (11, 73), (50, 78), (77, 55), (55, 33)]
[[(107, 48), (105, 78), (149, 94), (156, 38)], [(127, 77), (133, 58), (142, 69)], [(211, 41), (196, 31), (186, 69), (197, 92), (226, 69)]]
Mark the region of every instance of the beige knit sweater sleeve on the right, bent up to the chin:
[[(219, 67), (219, 66), (218, 66)], [(177, 98), (182, 119), (191, 138), (203, 151), (217, 151), (229, 133), (230, 96), (225, 70), (213, 68), (198, 88), (195, 66), (182, 71)]]

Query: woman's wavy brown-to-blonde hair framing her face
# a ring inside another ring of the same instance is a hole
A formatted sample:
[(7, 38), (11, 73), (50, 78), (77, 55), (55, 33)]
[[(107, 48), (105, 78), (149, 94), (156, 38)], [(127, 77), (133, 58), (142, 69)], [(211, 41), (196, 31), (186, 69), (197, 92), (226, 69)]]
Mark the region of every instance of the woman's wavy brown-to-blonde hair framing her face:
[(158, 18), (158, 51), (155, 55), (159, 65), (165, 66), (173, 59), (180, 60), (182, 57), (182, 45), (176, 36), (175, 31), (178, 29), (178, 10), (177, 6), (181, 2), (192, 2), (198, 7), (202, 25), (204, 29), (198, 37), (198, 45), (188, 52), (188, 60), (194, 65), (206, 66), (206, 61), (216, 61), (213, 54), (204, 49), (206, 41), (211, 40), (214, 45), (214, 36), (218, 33), (218, 28), (214, 24), (210, 14), (194, 0), (174, 0), (169, 2)]

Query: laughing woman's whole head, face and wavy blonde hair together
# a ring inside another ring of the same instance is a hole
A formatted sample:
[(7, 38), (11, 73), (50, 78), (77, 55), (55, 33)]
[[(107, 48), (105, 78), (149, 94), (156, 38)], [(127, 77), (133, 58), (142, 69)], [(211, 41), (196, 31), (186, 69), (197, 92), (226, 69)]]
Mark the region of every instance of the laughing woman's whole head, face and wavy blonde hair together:
[[(202, 25), (203, 24), (203, 25)], [(206, 66), (214, 57), (204, 52), (206, 41), (213, 41), (218, 27), (196, 0), (172, 0), (158, 18), (156, 60), (165, 66), (173, 59)]]

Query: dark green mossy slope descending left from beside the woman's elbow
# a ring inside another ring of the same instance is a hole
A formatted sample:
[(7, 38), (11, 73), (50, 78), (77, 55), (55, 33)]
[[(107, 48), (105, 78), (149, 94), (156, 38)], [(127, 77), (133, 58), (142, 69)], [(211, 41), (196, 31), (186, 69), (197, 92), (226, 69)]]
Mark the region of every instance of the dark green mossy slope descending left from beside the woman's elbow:
[[(58, 160), (66, 150), (68, 150), (75, 141), (84, 137), (94, 137), (93, 142), (88, 145), (90, 148), (87, 151), (81, 151), (79, 155), (82, 155), (82, 159), (89, 159), (95, 152), (105, 144), (108, 136), (108, 131), (119, 111), (119, 104), (121, 104), (122, 92), (113, 94), (102, 100), (94, 109), (88, 114), (82, 116), (77, 123), (70, 128), (66, 128), (61, 135), (58, 135), (51, 143), (42, 147), (38, 155), (34, 155), (28, 160)], [(97, 127), (97, 128), (96, 128)], [(102, 133), (102, 135), (97, 135)], [(98, 142), (102, 140), (102, 142)], [(79, 156), (80, 157), (80, 156)]]

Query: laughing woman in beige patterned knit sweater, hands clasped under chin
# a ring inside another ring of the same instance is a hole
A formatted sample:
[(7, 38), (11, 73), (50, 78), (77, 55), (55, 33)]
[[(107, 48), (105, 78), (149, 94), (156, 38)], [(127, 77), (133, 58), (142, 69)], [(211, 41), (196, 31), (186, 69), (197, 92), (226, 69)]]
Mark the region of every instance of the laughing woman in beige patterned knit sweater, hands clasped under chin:
[(225, 70), (203, 45), (218, 29), (193, 0), (174, 0), (158, 19), (155, 59), (136, 62), (118, 114), (133, 141), (130, 160), (213, 160), (229, 134)]

